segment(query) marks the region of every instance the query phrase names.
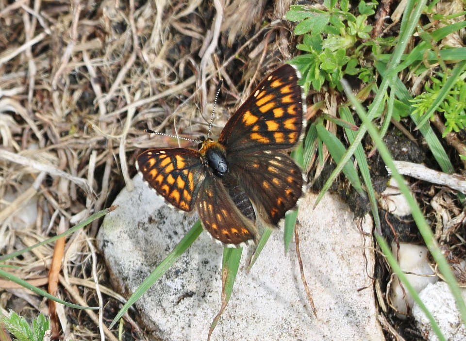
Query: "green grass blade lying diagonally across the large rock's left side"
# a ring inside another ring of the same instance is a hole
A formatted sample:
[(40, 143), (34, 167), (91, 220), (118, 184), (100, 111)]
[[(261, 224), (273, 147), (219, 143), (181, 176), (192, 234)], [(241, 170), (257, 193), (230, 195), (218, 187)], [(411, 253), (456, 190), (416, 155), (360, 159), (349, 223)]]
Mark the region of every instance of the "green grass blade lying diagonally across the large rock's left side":
[(170, 252), (164, 260), (150, 273), (149, 276), (139, 285), (139, 287), (134, 291), (128, 301), (125, 303), (123, 308), (118, 311), (109, 328), (112, 328), (121, 316), (136, 302), (149, 288), (160, 278), (162, 277), (167, 270), (183, 255), (184, 251), (187, 250), (191, 244), (199, 237), (202, 232), (202, 225), (198, 220), (193, 227), (186, 233), (183, 239), (178, 243), (175, 248)]

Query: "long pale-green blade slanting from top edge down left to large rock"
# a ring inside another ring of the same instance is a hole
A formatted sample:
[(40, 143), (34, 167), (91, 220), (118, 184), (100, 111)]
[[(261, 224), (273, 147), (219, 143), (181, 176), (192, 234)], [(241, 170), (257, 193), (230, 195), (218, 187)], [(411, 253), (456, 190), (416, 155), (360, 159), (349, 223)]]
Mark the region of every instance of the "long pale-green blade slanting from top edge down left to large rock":
[[(416, 3), (416, 7), (414, 7), (415, 3)], [(393, 51), (393, 54), (392, 54), (392, 58), (390, 59), (390, 62), (387, 65), (387, 70), (393, 70), (396, 65), (399, 65), (399, 61), (401, 60), (403, 51), (406, 49), (406, 46), (408, 42), (410, 41), (410, 37), (413, 35), (413, 32), (416, 28), (419, 17), (421, 16), (422, 10), (424, 9), (426, 3), (427, 3), (427, 0), (420, 0), (418, 2), (415, 2), (414, 0), (407, 1), (406, 7), (403, 12), (403, 18), (401, 20), (398, 44), (395, 47), (395, 50)], [(384, 99), (385, 99), (386, 92), (387, 92), (387, 89), (390, 83), (389, 81), (390, 81), (390, 77), (385, 77), (383, 78), (380, 84), (380, 88), (378, 89), (377, 94), (374, 97), (374, 101), (371, 104), (370, 110), (367, 113), (367, 117), (369, 118), (370, 121), (374, 119), (377, 113), (382, 112)], [(354, 139), (354, 142), (351, 144), (351, 146), (348, 148), (346, 153), (343, 155), (341, 162), (333, 170), (329, 179), (327, 179), (322, 190), (317, 196), (314, 207), (316, 207), (316, 205), (322, 199), (323, 195), (329, 190), (333, 181), (335, 181), (338, 174), (340, 174), (340, 172), (342, 171), (343, 166), (350, 160), (357, 146), (361, 143), (364, 135), (366, 134), (366, 131), (367, 129), (364, 125), (362, 125), (359, 128), (359, 131)]]

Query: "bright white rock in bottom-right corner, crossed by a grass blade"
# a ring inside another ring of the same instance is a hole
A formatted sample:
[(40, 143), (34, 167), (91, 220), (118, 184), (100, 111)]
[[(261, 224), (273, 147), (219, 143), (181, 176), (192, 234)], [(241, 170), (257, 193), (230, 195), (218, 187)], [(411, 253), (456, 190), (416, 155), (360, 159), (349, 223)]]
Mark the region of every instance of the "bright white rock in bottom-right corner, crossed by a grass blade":
[[(466, 291), (461, 288), (463, 299), (466, 300)], [(438, 281), (429, 284), (419, 292), (419, 297), (433, 315), (442, 334), (449, 341), (466, 340), (466, 328), (461, 321), (461, 316), (456, 309), (455, 300), (450, 292), (448, 284)], [(431, 328), (431, 324), (424, 312), (417, 304), (413, 307), (413, 316), (417, 321), (419, 329), (426, 335), (427, 340), (437, 341), (438, 338)]]

